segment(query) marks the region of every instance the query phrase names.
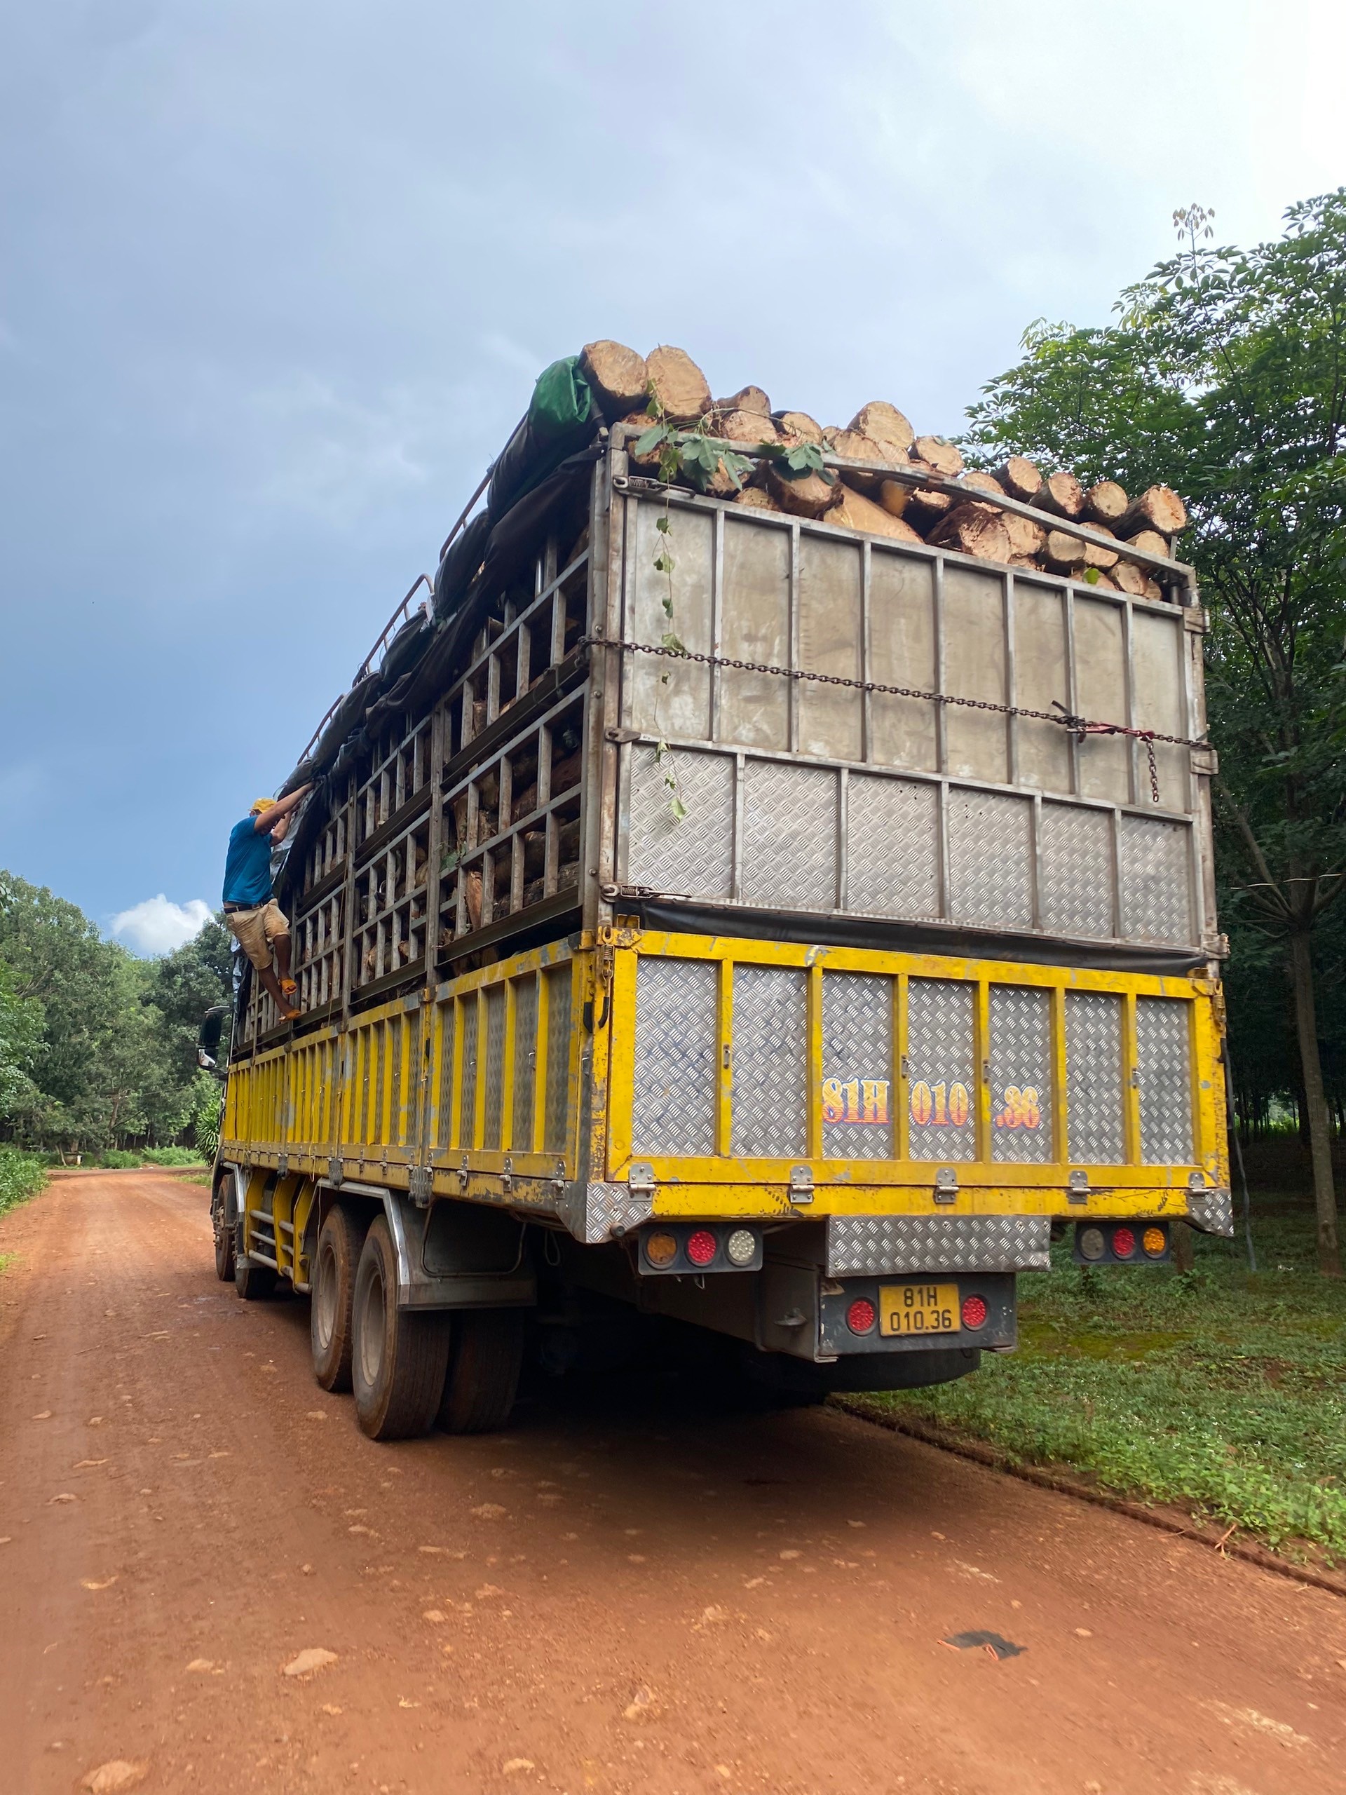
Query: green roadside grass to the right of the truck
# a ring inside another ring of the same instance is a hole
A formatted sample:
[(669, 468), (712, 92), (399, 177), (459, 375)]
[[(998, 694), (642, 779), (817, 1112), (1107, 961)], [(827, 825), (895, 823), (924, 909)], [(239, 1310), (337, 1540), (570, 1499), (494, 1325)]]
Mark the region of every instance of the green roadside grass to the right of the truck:
[[(1296, 1210), (1299, 1206), (1296, 1204)], [(1170, 1502), (1290, 1553), (1346, 1562), (1346, 1283), (1314, 1269), (1307, 1213), (1195, 1269), (1071, 1264), (1019, 1278), (1019, 1350), (930, 1391), (860, 1398)]]

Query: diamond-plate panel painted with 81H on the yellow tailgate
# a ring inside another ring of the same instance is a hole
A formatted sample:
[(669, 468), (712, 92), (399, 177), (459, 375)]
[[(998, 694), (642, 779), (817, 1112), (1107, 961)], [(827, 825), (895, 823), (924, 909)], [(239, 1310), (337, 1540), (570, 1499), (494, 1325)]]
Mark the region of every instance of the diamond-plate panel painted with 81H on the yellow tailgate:
[(827, 1158), (892, 1158), (892, 978), (822, 975), (822, 1151)]

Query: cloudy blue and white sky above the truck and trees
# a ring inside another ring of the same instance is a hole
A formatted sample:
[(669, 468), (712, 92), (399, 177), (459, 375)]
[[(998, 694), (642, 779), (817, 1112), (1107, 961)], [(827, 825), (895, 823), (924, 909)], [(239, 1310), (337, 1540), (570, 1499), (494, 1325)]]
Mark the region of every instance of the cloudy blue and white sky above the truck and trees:
[(1251, 241), (1346, 180), (1344, 16), (7, 7), (0, 865), (174, 946), (547, 361), (957, 431), (1174, 206)]

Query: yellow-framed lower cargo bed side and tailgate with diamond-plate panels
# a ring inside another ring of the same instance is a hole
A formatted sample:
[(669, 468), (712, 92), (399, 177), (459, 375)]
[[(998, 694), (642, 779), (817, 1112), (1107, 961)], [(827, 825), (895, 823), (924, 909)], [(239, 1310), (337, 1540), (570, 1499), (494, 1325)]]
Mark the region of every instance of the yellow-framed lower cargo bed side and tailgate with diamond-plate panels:
[(605, 928), (237, 1064), (221, 1152), (581, 1240), (659, 1215), (1201, 1221), (1228, 1188), (1220, 1012), (1201, 975)]

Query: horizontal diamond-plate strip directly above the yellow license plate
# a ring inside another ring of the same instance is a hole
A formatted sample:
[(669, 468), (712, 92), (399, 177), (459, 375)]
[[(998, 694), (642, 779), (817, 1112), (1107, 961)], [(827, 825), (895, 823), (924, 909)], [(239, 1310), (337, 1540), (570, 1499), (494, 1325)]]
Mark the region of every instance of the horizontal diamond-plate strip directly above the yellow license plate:
[(831, 1215), (827, 1276), (892, 1271), (1046, 1271), (1046, 1215)]

